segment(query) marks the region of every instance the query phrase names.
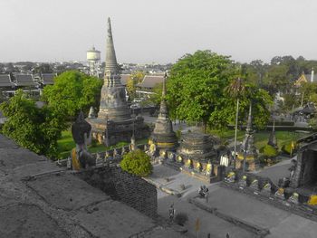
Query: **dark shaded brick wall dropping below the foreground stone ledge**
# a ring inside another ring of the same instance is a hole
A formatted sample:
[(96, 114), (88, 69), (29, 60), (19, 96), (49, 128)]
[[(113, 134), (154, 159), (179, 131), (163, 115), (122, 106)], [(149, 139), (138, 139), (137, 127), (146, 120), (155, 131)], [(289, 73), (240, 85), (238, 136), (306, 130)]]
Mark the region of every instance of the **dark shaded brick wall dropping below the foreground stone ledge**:
[(157, 216), (157, 189), (141, 177), (130, 175), (119, 167), (95, 167), (82, 171), (77, 176), (101, 189), (112, 199), (130, 205), (149, 217)]

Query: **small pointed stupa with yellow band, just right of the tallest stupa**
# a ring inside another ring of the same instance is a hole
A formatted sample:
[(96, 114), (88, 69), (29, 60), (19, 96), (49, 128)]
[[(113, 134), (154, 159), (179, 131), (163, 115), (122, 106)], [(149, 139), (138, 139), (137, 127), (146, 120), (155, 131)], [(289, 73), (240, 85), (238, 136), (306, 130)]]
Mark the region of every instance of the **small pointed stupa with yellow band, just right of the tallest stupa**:
[(162, 152), (175, 151), (178, 147), (178, 138), (176, 136), (176, 133), (173, 131), (172, 122), (168, 117), (168, 106), (165, 100), (166, 78), (167, 74), (165, 75), (163, 81), (162, 100), (160, 102), (159, 108), (159, 118), (157, 119), (155, 123), (155, 128), (150, 136), (150, 139), (153, 141), (153, 143), (156, 144), (159, 151)]

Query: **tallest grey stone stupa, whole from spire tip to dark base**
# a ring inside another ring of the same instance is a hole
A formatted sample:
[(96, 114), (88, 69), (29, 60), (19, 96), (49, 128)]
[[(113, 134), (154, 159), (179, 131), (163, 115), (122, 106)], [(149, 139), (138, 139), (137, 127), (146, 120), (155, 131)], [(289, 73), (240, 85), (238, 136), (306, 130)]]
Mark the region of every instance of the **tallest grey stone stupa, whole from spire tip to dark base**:
[(142, 117), (131, 118), (126, 100), (125, 87), (120, 82), (120, 68), (114, 50), (110, 18), (108, 18), (106, 67), (101, 89), (101, 103), (97, 118), (87, 119), (91, 123), (92, 137), (106, 146), (118, 142), (129, 142), (149, 137), (149, 127)]

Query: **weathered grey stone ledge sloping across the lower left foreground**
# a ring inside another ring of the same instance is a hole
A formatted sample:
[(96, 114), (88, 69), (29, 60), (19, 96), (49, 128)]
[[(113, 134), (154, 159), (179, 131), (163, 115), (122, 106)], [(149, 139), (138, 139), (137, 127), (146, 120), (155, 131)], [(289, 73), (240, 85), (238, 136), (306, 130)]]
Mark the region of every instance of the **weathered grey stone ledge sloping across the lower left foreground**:
[(0, 135), (0, 236), (180, 237)]

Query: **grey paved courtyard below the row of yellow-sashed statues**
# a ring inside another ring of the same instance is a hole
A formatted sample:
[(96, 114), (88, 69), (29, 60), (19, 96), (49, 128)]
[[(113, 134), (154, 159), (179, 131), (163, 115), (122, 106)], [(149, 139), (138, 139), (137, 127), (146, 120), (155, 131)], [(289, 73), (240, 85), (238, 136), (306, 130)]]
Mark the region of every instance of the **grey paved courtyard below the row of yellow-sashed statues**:
[[(278, 173), (279, 167), (284, 171), (285, 167), (288, 166), (289, 162), (283, 161), (281, 165), (269, 167), (268, 171), (264, 170), (262, 173), (269, 171)], [(166, 177), (169, 178), (169, 181)], [(264, 204), (248, 195), (220, 187), (218, 183), (207, 185), (197, 178), (161, 165), (154, 167), (151, 179), (160, 186), (182, 194), (181, 197), (168, 195), (158, 189), (159, 214), (168, 218), (168, 207), (174, 204), (177, 213), (184, 212), (188, 214), (189, 220), (186, 226), (188, 233), (191, 235), (197, 235), (195, 223), (199, 218), (201, 223), (199, 237), (207, 237), (207, 233), (210, 233), (211, 237), (226, 237), (226, 233), (229, 233), (230, 237), (256, 237), (255, 233), (246, 231), (235, 224), (226, 222), (215, 214), (210, 214), (196, 205), (190, 204), (188, 198), (193, 198), (202, 205), (216, 208), (217, 211), (236, 217), (248, 224), (269, 229), (270, 233), (266, 237), (316, 237), (317, 223), (276, 208), (273, 205)], [(182, 190), (180, 185), (185, 185), (186, 189)], [(209, 188), (208, 203), (206, 200), (196, 197), (201, 185), (207, 185)]]

